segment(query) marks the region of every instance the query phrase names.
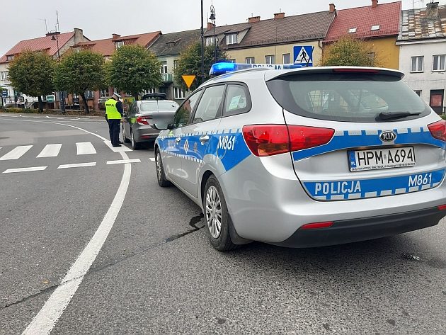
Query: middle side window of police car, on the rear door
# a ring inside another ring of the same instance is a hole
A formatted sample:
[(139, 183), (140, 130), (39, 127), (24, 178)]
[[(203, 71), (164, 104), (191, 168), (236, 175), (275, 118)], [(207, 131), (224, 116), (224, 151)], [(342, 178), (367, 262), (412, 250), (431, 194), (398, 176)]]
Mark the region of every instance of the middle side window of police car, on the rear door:
[(220, 105), (224, 95), (224, 85), (212, 86), (205, 90), (197, 111), (195, 112), (193, 123), (208, 121), (217, 118)]

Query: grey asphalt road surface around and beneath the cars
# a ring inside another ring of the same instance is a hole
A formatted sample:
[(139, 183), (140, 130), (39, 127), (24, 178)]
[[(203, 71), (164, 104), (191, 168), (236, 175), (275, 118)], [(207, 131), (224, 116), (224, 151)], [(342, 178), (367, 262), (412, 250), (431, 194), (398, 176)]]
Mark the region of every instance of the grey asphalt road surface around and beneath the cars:
[[(0, 334), (21, 334), (62, 286), (125, 169), (122, 207), (52, 334), (446, 334), (445, 220), (369, 242), (222, 254), (200, 209), (159, 188), (153, 149), (113, 152), (93, 134), (108, 137), (101, 118), (0, 114)], [(57, 156), (36, 158), (47, 144), (62, 144)], [(135, 161), (107, 164), (125, 155)]]

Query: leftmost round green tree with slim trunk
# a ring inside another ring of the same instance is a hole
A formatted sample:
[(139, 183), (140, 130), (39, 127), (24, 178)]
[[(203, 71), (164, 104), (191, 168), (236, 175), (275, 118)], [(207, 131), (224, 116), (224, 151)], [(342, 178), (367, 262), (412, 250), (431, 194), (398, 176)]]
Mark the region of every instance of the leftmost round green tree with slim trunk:
[(44, 52), (23, 51), (9, 64), (9, 79), (14, 89), (37, 96), (43, 112), (42, 96), (52, 93), (55, 61)]

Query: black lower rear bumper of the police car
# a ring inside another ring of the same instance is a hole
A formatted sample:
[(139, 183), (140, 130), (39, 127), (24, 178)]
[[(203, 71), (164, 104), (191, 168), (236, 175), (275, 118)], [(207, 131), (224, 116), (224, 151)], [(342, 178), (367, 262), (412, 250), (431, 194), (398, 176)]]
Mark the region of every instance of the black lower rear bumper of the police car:
[(379, 239), (435, 226), (445, 215), (445, 210), (428, 208), (399, 214), (365, 217), (363, 219), (340, 220), (335, 221), (328, 228), (297, 229), (285, 241), (273, 244), (294, 248), (309, 248)]

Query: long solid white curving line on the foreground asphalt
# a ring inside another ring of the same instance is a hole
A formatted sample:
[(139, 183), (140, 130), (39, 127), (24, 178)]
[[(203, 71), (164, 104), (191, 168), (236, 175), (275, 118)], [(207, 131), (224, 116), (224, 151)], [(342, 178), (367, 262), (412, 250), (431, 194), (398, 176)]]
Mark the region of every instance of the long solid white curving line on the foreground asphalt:
[(93, 264), (96, 256), (98, 256), (99, 251), (101, 251), (105, 239), (107, 239), (108, 234), (115, 223), (116, 217), (118, 217), (118, 213), (122, 207), (122, 203), (124, 203), (125, 194), (127, 193), (130, 183), (131, 173), (132, 166), (130, 164), (125, 164), (124, 174), (118, 192), (116, 193), (107, 214), (105, 214), (101, 225), (98, 227), (98, 230), (96, 230), (96, 233), (90, 242), (88, 242), (84, 251), (81, 252), (69, 269), (67, 275), (62, 279), (62, 283), (60, 283), (52, 293), (40, 312), (38, 312), (22, 334), (50, 334), (55, 327), (57, 320), (62, 315), (65, 308), (67, 308), (69, 301), (72, 299), (74, 293), (76, 293), (77, 288), (79, 288), (88, 269), (91, 267), (91, 264)]

